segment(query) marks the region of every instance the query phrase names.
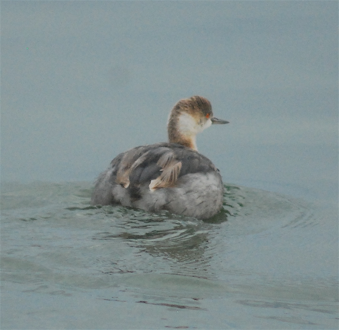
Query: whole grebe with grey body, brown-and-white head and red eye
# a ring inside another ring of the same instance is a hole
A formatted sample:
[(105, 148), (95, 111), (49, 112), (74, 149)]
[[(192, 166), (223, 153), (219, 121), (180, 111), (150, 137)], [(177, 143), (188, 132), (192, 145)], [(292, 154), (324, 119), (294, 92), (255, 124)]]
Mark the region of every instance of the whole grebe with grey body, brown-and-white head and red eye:
[(115, 157), (96, 181), (91, 205), (121, 204), (157, 212), (211, 218), (223, 202), (219, 170), (197, 151), (196, 135), (211, 124), (211, 103), (201, 97), (179, 101), (169, 114), (168, 141), (139, 146)]

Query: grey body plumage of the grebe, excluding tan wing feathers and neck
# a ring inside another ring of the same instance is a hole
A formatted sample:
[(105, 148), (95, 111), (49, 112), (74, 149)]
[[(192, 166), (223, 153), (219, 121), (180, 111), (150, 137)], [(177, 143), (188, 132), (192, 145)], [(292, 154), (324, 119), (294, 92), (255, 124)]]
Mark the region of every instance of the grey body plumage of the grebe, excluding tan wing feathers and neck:
[[(178, 178), (173, 185), (150, 191), (151, 180), (162, 172), (157, 162), (166, 153), (182, 163)], [(117, 180), (119, 169), (128, 171), (140, 158), (143, 161), (129, 174), (129, 185), (124, 188)], [(128, 164), (123, 159), (128, 159)], [(222, 202), (222, 180), (214, 164), (197, 151), (167, 142), (140, 146), (119, 154), (100, 174), (91, 199), (92, 205), (121, 204), (151, 212), (168, 210), (199, 219), (218, 213)]]

